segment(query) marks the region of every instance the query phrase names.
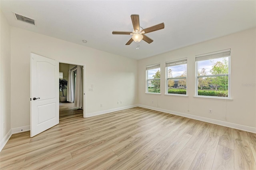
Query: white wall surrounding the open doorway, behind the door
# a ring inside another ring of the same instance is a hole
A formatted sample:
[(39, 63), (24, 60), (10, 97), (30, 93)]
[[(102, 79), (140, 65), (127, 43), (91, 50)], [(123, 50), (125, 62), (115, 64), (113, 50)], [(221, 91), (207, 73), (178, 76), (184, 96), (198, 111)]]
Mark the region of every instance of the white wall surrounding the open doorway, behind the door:
[(11, 128), (30, 125), (30, 52), (85, 64), (86, 114), (137, 104), (136, 60), (11, 27)]

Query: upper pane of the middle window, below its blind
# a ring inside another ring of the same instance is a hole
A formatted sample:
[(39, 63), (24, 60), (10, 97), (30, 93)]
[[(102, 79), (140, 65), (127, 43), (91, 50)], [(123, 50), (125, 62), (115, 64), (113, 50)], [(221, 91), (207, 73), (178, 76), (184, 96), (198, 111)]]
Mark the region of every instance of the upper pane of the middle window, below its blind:
[(167, 77), (186, 77), (187, 64), (181, 64), (177, 66), (170, 66), (167, 68)]

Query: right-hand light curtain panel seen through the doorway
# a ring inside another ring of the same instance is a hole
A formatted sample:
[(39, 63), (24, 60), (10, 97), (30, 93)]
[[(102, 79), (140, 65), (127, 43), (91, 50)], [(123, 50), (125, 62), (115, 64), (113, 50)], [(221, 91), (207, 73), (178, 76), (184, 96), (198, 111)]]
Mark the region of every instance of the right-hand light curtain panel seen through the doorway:
[(74, 105), (77, 108), (82, 108), (82, 96), (83, 96), (83, 91), (82, 91), (82, 67), (77, 66), (76, 70), (76, 90), (75, 90), (75, 99), (74, 99)]

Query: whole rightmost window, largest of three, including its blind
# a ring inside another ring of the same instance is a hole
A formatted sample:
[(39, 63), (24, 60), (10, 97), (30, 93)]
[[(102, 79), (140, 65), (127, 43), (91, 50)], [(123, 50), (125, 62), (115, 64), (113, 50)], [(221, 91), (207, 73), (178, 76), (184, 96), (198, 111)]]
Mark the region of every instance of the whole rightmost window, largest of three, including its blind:
[(230, 49), (196, 56), (196, 96), (230, 98)]

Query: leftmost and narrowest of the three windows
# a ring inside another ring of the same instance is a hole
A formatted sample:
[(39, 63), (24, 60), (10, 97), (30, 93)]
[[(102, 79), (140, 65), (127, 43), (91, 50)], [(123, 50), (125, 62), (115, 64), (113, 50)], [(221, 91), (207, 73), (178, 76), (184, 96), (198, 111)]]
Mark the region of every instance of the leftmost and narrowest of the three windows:
[(160, 93), (160, 64), (146, 67), (146, 93)]

